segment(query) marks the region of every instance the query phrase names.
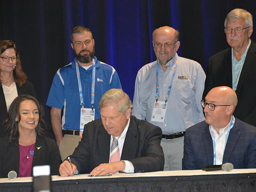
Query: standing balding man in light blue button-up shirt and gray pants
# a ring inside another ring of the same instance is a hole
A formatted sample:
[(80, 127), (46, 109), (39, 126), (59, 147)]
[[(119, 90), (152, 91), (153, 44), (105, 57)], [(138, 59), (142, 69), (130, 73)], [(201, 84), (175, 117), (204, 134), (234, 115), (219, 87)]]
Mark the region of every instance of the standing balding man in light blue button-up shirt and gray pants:
[(164, 170), (181, 170), (184, 133), (204, 120), (205, 74), (198, 62), (178, 56), (178, 30), (157, 28), (152, 46), (157, 59), (138, 71), (132, 114), (162, 129)]

